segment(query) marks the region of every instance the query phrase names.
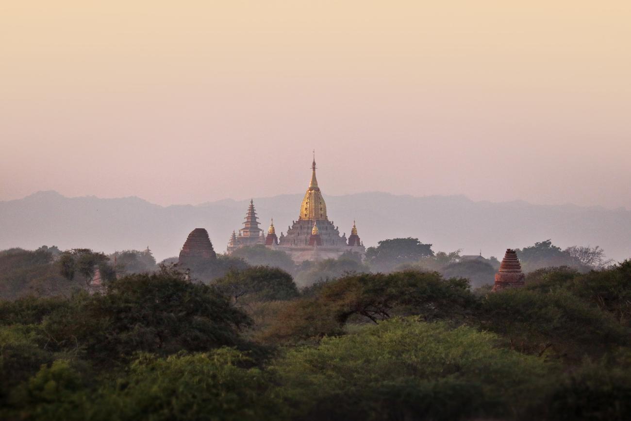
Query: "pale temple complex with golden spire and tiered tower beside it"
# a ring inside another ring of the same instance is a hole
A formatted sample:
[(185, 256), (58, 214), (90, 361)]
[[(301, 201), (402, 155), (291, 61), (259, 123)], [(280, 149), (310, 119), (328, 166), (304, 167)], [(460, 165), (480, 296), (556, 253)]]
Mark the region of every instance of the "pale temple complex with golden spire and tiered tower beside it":
[[(339, 258), (348, 251), (357, 252), (363, 256), (366, 249), (357, 234), (355, 222), (351, 228), (351, 236), (346, 240), (346, 234), (340, 235), (339, 228), (329, 220), (326, 203), (324, 203), (315, 177), (315, 169), (314, 158), (311, 165), (311, 181), (302, 203), (300, 203), (298, 220), (293, 221), (292, 225), (287, 227), (286, 234), (281, 232), (280, 237), (277, 237), (273, 221), (269, 226), (267, 236), (259, 234), (262, 231), (256, 222), (254, 203), (250, 201), (245, 218), (245, 228), (239, 230), (238, 236), (233, 232), (228, 241), (228, 254), (239, 247), (265, 244), (271, 249), (288, 253), (296, 263), (302, 263), (305, 260)], [(243, 240), (246, 232), (251, 240)]]

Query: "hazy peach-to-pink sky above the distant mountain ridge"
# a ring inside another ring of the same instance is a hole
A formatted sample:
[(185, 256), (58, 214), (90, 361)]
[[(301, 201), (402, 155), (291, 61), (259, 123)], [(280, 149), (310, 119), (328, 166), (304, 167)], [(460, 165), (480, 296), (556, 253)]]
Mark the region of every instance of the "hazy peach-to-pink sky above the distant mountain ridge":
[(3, 1), (0, 200), (631, 208), (631, 1)]

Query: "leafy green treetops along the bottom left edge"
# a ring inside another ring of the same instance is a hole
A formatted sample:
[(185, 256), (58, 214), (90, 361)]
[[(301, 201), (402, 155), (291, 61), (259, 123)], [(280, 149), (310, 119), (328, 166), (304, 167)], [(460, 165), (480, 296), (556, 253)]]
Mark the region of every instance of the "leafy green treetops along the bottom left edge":
[(116, 381), (89, 389), (68, 360), (42, 366), (15, 393), (13, 419), (283, 420), (285, 408), (269, 393), (269, 374), (232, 348), (179, 353), (166, 358), (141, 353)]

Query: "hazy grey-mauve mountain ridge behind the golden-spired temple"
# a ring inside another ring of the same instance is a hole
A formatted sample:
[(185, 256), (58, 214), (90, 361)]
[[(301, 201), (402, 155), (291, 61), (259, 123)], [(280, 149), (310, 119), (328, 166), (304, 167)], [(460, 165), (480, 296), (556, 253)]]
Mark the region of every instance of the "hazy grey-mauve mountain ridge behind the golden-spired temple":
[[(400, 196), (357, 193), (326, 196), (329, 218), (350, 234), (353, 219), (365, 246), (394, 237), (418, 237), (434, 251), (497, 256), (507, 247), (552, 239), (560, 247), (601, 246), (616, 260), (631, 257), (631, 211), (600, 206), (492, 203), (466, 196)], [(274, 218), (276, 232), (298, 216), (302, 194), (254, 198), (262, 228)], [(136, 196), (66, 198), (42, 191), (0, 201), (0, 249), (89, 247), (113, 252), (149, 246), (158, 260), (177, 256), (187, 234), (206, 228), (215, 251), (224, 252), (232, 230), (242, 227), (249, 200), (160, 206)]]

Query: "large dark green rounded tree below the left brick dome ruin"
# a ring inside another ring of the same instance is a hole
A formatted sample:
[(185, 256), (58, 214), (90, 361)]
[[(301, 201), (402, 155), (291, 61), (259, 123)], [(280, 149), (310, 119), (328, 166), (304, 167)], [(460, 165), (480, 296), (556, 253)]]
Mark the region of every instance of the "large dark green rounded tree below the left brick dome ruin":
[(75, 295), (69, 307), (45, 317), (54, 350), (107, 363), (134, 352), (161, 355), (239, 345), (238, 330), (251, 323), (215, 288), (161, 271), (129, 275), (106, 294)]

